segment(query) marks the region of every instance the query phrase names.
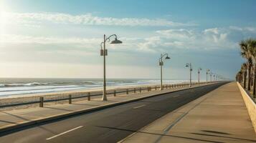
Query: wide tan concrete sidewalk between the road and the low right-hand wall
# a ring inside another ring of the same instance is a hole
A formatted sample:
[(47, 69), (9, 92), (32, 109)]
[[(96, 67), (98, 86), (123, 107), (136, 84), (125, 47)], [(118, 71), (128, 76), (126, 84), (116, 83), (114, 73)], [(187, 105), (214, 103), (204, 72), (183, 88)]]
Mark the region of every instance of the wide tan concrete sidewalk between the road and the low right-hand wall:
[(120, 142), (256, 142), (240, 89), (225, 84)]

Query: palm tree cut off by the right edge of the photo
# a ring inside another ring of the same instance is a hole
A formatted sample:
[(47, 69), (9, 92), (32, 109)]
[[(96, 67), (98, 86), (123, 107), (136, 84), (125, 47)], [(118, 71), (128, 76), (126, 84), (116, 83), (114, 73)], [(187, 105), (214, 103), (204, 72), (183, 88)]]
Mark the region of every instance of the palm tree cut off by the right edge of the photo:
[(247, 40), (247, 44), (250, 46), (250, 54), (254, 62), (254, 76), (253, 76), (253, 97), (256, 97), (256, 39)]

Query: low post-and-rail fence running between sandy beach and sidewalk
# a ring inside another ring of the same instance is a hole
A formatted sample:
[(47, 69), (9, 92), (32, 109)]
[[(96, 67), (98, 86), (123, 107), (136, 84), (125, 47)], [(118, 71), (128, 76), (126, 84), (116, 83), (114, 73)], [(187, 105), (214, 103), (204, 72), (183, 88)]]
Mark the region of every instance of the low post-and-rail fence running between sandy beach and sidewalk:
[[(205, 84), (206, 82), (200, 82), (200, 84)], [(198, 82), (193, 82), (192, 85), (198, 84)], [(175, 87), (186, 87), (189, 86), (189, 84), (166, 84), (163, 85), (163, 89), (171, 89)], [(151, 90), (158, 90), (161, 89), (159, 86), (148, 86), (148, 87), (133, 87), (133, 88), (127, 88), (127, 89), (120, 89), (121, 91), (116, 91), (117, 89), (110, 89), (113, 92), (108, 92), (107, 94), (113, 94), (113, 96), (116, 96), (116, 94), (120, 93), (126, 93), (129, 94), (130, 92), (133, 93), (141, 93), (143, 91), (150, 92)], [(44, 100), (44, 97), (38, 97), (38, 101), (31, 101), (31, 102), (21, 102), (21, 103), (13, 103), (13, 104), (0, 104), (0, 108), (6, 108), (6, 107), (16, 107), (16, 106), (22, 106), (22, 105), (27, 105), (27, 104), (39, 104), (39, 107), (44, 107), (44, 102), (60, 102), (60, 101), (65, 101), (67, 100), (69, 104), (72, 104), (72, 99), (80, 99), (80, 98), (85, 98), (87, 97), (87, 100), (90, 101), (90, 97), (95, 97), (95, 96), (100, 96), (102, 94), (91, 94), (91, 92), (85, 92), (86, 95), (82, 95), (79, 97), (72, 97), (72, 94), (68, 94), (67, 97), (65, 98), (60, 98), (60, 99), (47, 99)]]

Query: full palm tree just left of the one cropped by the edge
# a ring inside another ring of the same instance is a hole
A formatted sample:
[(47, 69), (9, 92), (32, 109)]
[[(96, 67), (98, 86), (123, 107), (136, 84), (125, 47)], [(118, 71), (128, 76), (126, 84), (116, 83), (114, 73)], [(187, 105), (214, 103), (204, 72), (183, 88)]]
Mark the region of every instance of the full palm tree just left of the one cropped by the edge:
[(247, 59), (247, 70), (248, 70), (248, 83), (247, 89), (251, 89), (251, 71), (252, 71), (252, 54), (250, 52), (250, 41), (252, 39), (243, 40), (240, 42), (241, 56)]

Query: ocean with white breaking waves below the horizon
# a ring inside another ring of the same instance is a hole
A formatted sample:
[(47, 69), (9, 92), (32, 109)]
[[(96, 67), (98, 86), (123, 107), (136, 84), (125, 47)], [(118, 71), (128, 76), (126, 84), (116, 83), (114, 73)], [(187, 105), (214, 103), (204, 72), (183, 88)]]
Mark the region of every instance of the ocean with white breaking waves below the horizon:
[[(164, 84), (178, 84), (188, 80), (163, 80)], [(160, 84), (158, 79), (107, 79), (108, 87), (143, 84)], [(65, 92), (95, 89), (103, 86), (103, 79), (46, 79), (46, 78), (1, 78), (0, 97), (11, 95)]]

